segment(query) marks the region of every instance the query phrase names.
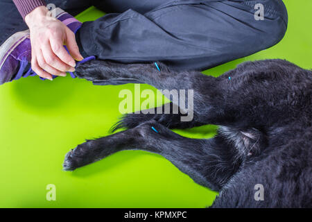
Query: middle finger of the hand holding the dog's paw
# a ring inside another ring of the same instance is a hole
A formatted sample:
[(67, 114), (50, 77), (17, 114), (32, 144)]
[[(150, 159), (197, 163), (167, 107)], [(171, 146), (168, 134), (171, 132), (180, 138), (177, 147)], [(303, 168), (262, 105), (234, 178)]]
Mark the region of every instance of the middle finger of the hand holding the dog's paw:
[[(75, 69), (73, 67), (62, 62), (60, 60), (60, 58), (58, 58), (58, 56), (55, 56), (55, 54), (53, 53), (53, 51), (51, 49), (50, 43), (42, 45), (41, 51), (42, 51), (42, 55), (43, 55), (46, 63), (50, 67), (53, 67), (55, 70), (58, 70), (58, 73), (62, 73), (61, 76), (66, 75), (66, 74), (64, 74), (65, 71), (75, 71)], [(46, 69), (46, 71), (48, 71), (48, 70)], [(48, 71), (48, 72), (50, 72), (50, 71)], [(54, 73), (51, 73), (51, 74), (55, 75)], [(58, 76), (58, 75), (56, 75), (56, 76)]]

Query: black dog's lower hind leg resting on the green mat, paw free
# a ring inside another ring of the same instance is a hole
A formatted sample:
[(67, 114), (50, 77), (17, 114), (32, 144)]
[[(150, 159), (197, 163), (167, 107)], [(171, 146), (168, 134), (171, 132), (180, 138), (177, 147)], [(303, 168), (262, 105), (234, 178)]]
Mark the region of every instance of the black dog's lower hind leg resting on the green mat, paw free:
[(158, 153), (171, 161), (195, 182), (219, 190), (237, 171), (236, 151), (221, 137), (189, 139), (150, 121), (101, 139), (80, 144), (67, 153), (65, 170), (74, 170), (112, 153), (139, 149)]

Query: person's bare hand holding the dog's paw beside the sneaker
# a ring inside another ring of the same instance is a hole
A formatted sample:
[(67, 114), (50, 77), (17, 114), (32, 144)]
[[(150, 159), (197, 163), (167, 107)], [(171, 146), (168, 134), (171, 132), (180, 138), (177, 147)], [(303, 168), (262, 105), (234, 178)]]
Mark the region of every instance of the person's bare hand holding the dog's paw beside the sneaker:
[(31, 33), (31, 67), (38, 76), (52, 80), (51, 75), (66, 76), (66, 71), (74, 71), (75, 60), (83, 60), (83, 56), (75, 34), (48, 12), (45, 6), (37, 7), (26, 15), (25, 22)]

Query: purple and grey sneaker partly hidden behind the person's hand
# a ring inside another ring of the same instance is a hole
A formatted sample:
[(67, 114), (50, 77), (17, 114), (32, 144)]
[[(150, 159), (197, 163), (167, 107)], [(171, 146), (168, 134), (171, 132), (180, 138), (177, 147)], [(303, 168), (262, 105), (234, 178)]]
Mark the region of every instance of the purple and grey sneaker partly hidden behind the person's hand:
[[(63, 24), (65, 24), (73, 33), (76, 33), (82, 23), (75, 19), (72, 15), (60, 8), (52, 11)], [(65, 46), (66, 48), (66, 46)], [(92, 60), (94, 56), (85, 58)], [(6, 42), (0, 46), (0, 85), (3, 83), (17, 80), (21, 77), (36, 76), (31, 69), (31, 40), (29, 39), (29, 30), (21, 31), (10, 36)], [(78, 62), (77, 62), (78, 63)], [(75, 76), (71, 74), (73, 78)], [(56, 76), (53, 76), (55, 78)], [(41, 78), (44, 80), (44, 78)]]

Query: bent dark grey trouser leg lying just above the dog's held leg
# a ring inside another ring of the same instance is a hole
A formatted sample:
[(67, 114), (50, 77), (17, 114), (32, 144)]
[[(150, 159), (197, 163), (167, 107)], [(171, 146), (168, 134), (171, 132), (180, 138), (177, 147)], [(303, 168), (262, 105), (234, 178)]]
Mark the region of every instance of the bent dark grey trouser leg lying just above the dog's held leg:
[[(254, 19), (257, 3), (264, 6), (263, 21)], [(203, 70), (267, 49), (284, 37), (288, 21), (281, 0), (111, 0), (94, 5), (119, 13), (83, 24), (77, 40), (85, 56), (162, 61), (175, 69)]]

